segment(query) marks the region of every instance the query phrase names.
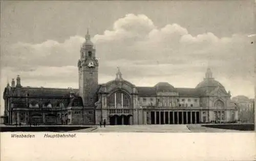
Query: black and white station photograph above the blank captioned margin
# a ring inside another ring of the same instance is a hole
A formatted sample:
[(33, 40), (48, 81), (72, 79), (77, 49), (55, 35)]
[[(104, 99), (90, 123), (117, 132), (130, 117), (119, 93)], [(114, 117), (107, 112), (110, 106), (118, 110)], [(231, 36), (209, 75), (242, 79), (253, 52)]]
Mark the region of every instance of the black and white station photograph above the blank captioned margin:
[(253, 3), (1, 1), (1, 131), (253, 131)]

